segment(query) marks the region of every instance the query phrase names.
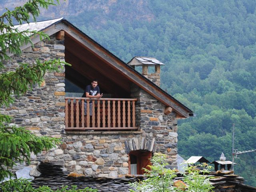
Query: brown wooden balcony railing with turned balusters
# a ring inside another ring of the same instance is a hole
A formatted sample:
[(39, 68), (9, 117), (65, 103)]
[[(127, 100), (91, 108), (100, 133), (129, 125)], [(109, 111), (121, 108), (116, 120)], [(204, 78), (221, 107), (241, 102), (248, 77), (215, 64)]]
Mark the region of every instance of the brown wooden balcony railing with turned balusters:
[[(65, 98), (65, 130), (134, 130), (137, 99)], [(87, 101), (87, 115), (84, 102)], [(92, 101), (92, 114), (89, 102)]]

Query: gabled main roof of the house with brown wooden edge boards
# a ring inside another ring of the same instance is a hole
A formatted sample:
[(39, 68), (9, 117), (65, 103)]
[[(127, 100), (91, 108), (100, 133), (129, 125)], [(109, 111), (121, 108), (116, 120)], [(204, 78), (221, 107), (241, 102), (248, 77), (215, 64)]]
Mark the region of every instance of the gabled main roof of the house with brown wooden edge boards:
[[(56, 24), (58, 24), (58, 26)], [(185, 105), (180, 103), (178, 100), (176, 100), (174, 97), (172, 97), (170, 94), (162, 90), (152, 81), (150, 81), (148, 78), (142, 76), (134, 68), (126, 64), (116, 55), (112, 54), (106, 48), (98, 44), (95, 40), (90, 38), (88, 35), (86, 35), (76, 26), (74, 26), (67, 20), (64, 20), (63, 18), (46, 20), (46, 21), (35, 22), (30, 24), (23, 24), (21, 26), (17, 25), (16, 27), (18, 28), (18, 30), (31, 29), (31, 30), (44, 31), (48, 35), (52, 35), (60, 30), (64, 30), (65, 34), (68, 34), (71, 38), (75, 39), (77, 42), (79, 42), (86, 48), (91, 49), (91, 51), (94, 52), (94, 54), (106, 60), (107, 63), (110, 63), (111, 67), (114, 67), (117, 70), (119, 70), (119, 72), (122, 72), (123, 75), (126, 76), (126, 78), (134, 82), (137, 86), (139, 86), (140, 88), (142, 88), (143, 90), (145, 90), (146, 92), (154, 96), (156, 99), (158, 99), (160, 102), (162, 102), (166, 106), (172, 107), (173, 110), (177, 112), (180, 116), (189, 117), (194, 115), (193, 111), (190, 110), (188, 107), (186, 107)], [(36, 43), (39, 41), (40, 41), (40, 38), (38, 36), (37, 37), (32, 36), (33, 43)], [(28, 46), (30, 45), (29, 44), (24, 45), (21, 47), (21, 49), (27, 48)], [(154, 58), (152, 58), (151, 61), (152, 60), (154, 62), (159, 62), (158, 60), (157, 61), (154, 60)]]

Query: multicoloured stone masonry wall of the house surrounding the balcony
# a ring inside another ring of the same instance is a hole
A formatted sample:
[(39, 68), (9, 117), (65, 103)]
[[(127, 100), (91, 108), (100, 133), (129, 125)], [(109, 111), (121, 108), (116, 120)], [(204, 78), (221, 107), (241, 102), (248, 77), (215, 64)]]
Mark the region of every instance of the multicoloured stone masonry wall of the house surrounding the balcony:
[[(32, 63), (35, 58), (64, 59), (64, 40), (50, 40), (29, 47), (19, 57), (6, 63), (6, 70), (14, 70), (19, 62)], [(2, 114), (14, 117), (12, 124), (25, 126), (37, 136), (62, 139), (62, 144), (42, 154), (32, 154), (32, 165), (46, 160), (64, 165), (69, 172), (94, 176), (117, 177), (128, 173), (128, 152), (148, 149), (168, 155), (171, 167), (176, 166), (177, 121), (176, 113), (164, 115), (164, 104), (138, 86), (131, 85), (131, 97), (137, 98), (136, 132), (65, 132), (64, 128), (64, 70), (48, 72), (40, 87), (34, 85), (25, 96), (16, 97)], [(21, 168), (21, 167), (19, 167)]]

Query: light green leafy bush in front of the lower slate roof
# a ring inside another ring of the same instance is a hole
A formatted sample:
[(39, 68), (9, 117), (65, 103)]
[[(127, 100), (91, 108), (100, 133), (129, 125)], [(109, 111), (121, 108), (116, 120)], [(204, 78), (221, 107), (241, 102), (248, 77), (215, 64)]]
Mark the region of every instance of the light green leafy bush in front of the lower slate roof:
[(146, 179), (139, 182), (132, 183), (131, 186), (135, 190), (131, 192), (181, 192), (181, 191), (200, 191), (209, 192), (213, 186), (209, 183), (209, 178), (204, 174), (209, 172), (208, 169), (195, 169), (194, 167), (188, 168), (188, 173), (184, 174), (183, 181), (174, 184), (174, 178), (177, 176), (176, 170), (167, 169), (166, 155), (155, 153), (151, 159), (152, 166), (149, 169), (144, 168), (146, 171)]

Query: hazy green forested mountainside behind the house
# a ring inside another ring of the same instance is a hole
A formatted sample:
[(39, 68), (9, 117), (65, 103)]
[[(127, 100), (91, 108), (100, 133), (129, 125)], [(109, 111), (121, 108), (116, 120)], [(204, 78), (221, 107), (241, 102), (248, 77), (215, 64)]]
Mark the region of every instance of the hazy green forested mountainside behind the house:
[[(235, 148), (256, 149), (255, 0), (83, 2), (89, 8), (60, 16), (125, 62), (149, 56), (166, 64), (161, 87), (196, 114), (179, 122), (181, 156), (211, 161), (224, 152), (232, 160), (232, 123)], [(256, 152), (239, 157), (235, 173), (256, 186)]]

